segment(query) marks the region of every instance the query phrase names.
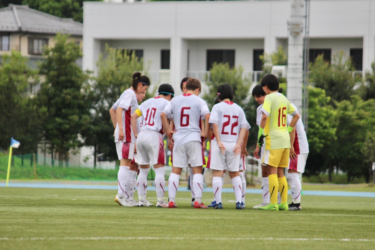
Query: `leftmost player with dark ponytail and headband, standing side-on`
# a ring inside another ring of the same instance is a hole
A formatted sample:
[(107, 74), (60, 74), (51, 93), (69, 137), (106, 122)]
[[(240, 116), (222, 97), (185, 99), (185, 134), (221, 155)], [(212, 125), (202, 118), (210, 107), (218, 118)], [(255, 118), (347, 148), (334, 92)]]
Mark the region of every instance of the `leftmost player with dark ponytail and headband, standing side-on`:
[[(118, 197), (115, 201), (122, 206), (132, 206), (130, 201), (130, 189), (133, 187), (133, 176), (135, 168), (130, 166), (134, 153), (134, 135), (130, 126), (130, 117), (138, 108), (136, 93), (142, 93), (150, 86), (150, 80), (147, 76), (141, 75), (140, 72), (133, 74), (132, 86), (121, 94), (122, 99), (116, 109), (117, 126), (115, 130), (115, 139), (123, 142), (121, 152), (123, 163), (118, 169)], [(120, 162), (121, 163), (121, 162)]]

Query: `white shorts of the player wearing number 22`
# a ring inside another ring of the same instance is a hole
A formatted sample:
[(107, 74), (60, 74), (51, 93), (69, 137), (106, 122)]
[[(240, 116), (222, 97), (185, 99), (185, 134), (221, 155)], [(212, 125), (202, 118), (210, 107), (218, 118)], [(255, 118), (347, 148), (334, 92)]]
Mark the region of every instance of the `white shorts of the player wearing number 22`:
[(225, 147), (224, 154), (221, 152), (216, 140), (211, 140), (211, 162), (210, 169), (228, 170), (238, 172), (240, 166), (241, 154), (234, 156), (233, 149), (236, 142), (222, 142)]

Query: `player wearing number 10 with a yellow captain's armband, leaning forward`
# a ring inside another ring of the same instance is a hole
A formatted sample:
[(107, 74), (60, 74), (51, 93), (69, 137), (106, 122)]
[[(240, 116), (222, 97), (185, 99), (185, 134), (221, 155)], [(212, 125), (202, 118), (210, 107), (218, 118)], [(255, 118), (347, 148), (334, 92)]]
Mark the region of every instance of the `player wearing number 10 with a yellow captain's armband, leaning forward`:
[(163, 141), (163, 125), (160, 114), (165, 106), (174, 96), (173, 87), (170, 84), (159, 86), (159, 95), (148, 99), (142, 103), (132, 114), (132, 127), (136, 131), (136, 119), (142, 116), (142, 128), (137, 138), (137, 153), (139, 155), (139, 175), (138, 175), (138, 198), (139, 207), (145, 204), (145, 192), (147, 189), (147, 175), (150, 171), (150, 164), (155, 170), (155, 189), (157, 196), (156, 207), (168, 207), (168, 202), (164, 201), (164, 165), (165, 151)]

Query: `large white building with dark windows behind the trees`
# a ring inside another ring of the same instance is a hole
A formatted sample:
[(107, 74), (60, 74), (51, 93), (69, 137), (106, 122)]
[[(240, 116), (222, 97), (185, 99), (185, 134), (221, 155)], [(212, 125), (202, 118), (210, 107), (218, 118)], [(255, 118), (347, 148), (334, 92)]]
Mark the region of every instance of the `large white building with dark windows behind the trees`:
[[(310, 59), (352, 56), (358, 70), (375, 60), (375, 0), (310, 0)], [(83, 69), (96, 72), (105, 43), (135, 49), (153, 82), (203, 79), (213, 61), (261, 70), (258, 59), (288, 46), (289, 0), (84, 2)], [(254, 76), (254, 78), (256, 78)]]

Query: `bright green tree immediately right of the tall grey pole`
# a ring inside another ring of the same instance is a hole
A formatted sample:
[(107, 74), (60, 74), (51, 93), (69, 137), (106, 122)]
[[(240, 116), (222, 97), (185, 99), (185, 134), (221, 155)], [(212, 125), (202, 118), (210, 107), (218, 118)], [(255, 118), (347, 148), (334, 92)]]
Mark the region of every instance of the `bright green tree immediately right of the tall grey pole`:
[(333, 161), (335, 159), (336, 111), (329, 104), (331, 98), (321, 88), (309, 87), (309, 157), (306, 174), (318, 175), (329, 169), (332, 181)]

